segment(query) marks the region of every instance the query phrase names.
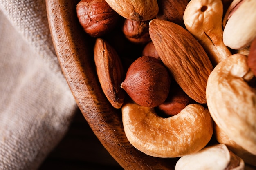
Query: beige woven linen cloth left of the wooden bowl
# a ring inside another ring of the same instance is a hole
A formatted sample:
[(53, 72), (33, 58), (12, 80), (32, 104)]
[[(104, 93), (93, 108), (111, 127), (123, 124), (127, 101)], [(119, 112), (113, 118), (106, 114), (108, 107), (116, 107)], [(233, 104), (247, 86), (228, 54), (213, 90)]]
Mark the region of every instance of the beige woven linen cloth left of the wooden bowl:
[(0, 170), (35, 170), (77, 109), (44, 0), (0, 0)]

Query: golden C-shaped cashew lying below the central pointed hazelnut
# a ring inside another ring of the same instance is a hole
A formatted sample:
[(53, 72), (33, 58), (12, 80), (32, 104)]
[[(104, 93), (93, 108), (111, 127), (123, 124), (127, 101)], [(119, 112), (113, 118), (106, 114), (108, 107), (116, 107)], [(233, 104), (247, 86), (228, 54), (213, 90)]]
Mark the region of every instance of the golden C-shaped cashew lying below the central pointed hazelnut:
[(200, 104), (189, 104), (177, 115), (163, 118), (153, 108), (127, 103), (122, 107), (122, 119), (128, 141), (154, 157), (198, 152), (213, 134), (209, 111)]

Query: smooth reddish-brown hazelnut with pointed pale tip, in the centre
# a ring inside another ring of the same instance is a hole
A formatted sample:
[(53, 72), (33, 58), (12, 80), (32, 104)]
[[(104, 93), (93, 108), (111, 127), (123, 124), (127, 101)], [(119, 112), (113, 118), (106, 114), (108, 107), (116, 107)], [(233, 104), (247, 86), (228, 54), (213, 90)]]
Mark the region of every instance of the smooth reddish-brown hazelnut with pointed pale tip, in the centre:
[(169, 73), (162, 62), (154, 57), (142, 56), (128, 68), (121, 88), (137, 104), (153, 108), (166, 100), (170, 84)]

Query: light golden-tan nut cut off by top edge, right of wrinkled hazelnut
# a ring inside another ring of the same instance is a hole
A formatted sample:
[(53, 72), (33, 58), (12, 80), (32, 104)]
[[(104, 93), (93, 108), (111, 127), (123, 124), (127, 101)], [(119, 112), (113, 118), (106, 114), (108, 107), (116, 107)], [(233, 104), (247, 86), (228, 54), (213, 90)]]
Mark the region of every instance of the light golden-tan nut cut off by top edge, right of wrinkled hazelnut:
[(124, 18), (147, 21), (158, 13), (157, 0), (105, 0), (112, 9)]

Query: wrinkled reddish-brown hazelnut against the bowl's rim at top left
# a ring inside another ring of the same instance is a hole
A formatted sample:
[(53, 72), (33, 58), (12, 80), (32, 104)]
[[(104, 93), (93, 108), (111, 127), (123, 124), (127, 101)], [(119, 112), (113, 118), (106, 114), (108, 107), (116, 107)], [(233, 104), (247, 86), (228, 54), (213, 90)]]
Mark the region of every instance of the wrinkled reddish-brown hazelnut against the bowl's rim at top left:
[(81, 0), (76, 14), (84, 31), (92, 37), (110, 32), (120, 17), (105, 0)]

